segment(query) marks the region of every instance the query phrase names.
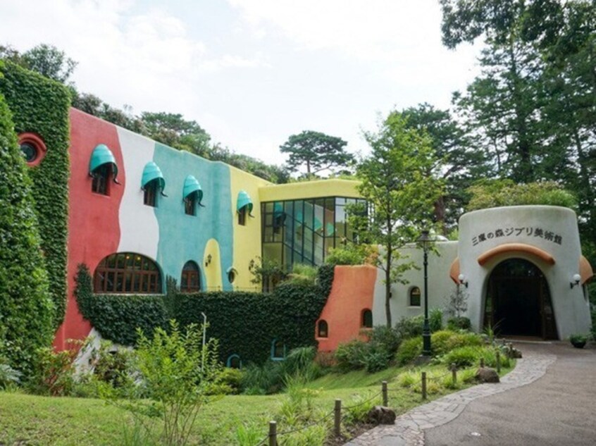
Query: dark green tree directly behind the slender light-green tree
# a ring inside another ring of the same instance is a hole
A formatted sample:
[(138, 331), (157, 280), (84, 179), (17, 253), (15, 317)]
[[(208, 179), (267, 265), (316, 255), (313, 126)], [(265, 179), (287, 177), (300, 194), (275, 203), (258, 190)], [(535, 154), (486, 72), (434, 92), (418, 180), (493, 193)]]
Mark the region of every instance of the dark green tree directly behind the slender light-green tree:
[(471, 147), (461, 125), (448, 110), (419, 104), (402, 111), (408, 128), (425, 130), (435, 150), (436, 163), (430, 172), (445, 182), (445, 194), (435, 202), (435, 221), (443, 235), (457, 225), (457, 219), (468, 201), (466, 189), (476, 178), (490, 175), (483, 151)]

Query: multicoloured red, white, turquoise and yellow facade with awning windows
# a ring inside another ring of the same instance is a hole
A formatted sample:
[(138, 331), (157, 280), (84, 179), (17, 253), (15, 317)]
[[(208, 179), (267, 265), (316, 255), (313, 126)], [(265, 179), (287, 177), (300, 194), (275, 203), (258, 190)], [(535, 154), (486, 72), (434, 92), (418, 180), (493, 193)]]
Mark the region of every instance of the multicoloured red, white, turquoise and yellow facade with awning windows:
[(346, 199), (358, 197), (354, 181), (273, 185), (76, 109), (69, 154), (68, 301), (58, 349), (92, 329), (73, 296), (78, 264), (88, 266), (99, 293), (163, 293), (168, 275), (189, 291), (259, 291), (249, 268), (260, 256), (271, 258), (261, 232), (271, 227), (273, 212), (265, 209), (292, 209), (280, 223), (292, 225), (284, 233), (294, 255), (276, 259), (321, 264), (349, 230), (335, 216)]

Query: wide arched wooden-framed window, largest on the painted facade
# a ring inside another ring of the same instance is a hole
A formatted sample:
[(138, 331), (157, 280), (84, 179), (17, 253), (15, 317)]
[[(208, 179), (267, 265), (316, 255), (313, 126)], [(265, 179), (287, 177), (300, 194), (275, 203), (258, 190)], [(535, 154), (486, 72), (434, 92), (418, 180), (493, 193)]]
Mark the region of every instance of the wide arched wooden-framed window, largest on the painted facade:
[(94, 274), (94, 292), (161, 293), (161, 273), (148, 257), (132, 252), (111, 254), (99, 262)]

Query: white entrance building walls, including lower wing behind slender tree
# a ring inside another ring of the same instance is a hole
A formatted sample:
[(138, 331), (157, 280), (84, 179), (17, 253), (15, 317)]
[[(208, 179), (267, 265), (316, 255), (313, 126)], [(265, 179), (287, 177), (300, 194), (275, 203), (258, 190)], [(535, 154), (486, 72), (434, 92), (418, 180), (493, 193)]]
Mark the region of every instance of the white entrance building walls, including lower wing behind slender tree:
[[(537, 228), (542, 230), (542, 237), (535, 235)], [(502, 231), (501, 237), (495, 235), (497, 230)], [(553, 240), (545, 239), (546, 231), (552, 233)], [(485, 237), (483, 241), (480, 241), (481, 234)], [(560, 244), (554, 242), (555, 235), (561, 237)], [(523, 252), (499, 254), (483, 266), (478, 264), (478, 256), (508, 243), (538, 247), (552, 255), (555, 264), (547, 264)], [(579, 272), (581, 256), (577, 217), (571, 209), (559, 206), (509, 206), (466, 213), (459, 219), (459, 242), (437, 242), (436, 248), (440, 255), (430, 253), (428, 259), (429, 308), (445, 307), (449, 294), (456, 290), (457, 285), (449, 277), (449, 269), (452, 261), (459, 257), (460, 272), (468, 280), (467, 316), (471, 319), (473, 328), (478, 330), (483, 323), (484, 300), (490, 273), (502, 261), (520, 258), (538, 266), (545, 275), (559, 339), (565, 339), (573, 333), (588, 333), (590, 330), (588, 299), (581, 286), (573, 289), (569, 286), (573, 275)], [(422, 268), (421, 249), (409, 246), (402, 249), (402, 252), (408, 254)], [(409, 281), (408, 285), (392, 285), (391, 312), (394, 325), (402, 317), (416, 316), (424, 311), (422, 269), (407, 272), (405, 278)], [(379, 271), (373, 301), (375, 325), (383, 325), (386, 321), (383, 279), (383, 271)], [(421, 289), (420, 307), (409, 306), (409, 289), (413, 286)]]

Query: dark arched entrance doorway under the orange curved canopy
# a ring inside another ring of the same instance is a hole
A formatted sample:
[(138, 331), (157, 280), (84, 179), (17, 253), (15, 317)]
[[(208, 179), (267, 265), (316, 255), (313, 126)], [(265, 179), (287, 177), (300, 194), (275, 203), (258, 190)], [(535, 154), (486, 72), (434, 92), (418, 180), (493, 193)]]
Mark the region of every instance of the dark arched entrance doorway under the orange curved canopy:
[(502, 336), (557, 339), (550, 292), (540, 268), (530, 261), (509, 259), (488, 279), (484, 326)]

